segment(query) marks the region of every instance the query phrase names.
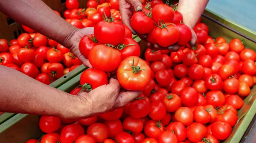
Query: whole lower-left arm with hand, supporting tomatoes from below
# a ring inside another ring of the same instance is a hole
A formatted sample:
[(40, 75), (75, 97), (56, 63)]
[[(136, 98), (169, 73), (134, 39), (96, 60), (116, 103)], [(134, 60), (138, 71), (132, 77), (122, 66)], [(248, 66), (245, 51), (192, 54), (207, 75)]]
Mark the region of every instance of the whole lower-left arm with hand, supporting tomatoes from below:
[(119, 92), (121, 86), (113, 78), (108, 85), (75, 96), (6, 66), (0, 65), (0, 73), (1, 112), (84, 119), (125, 106), (140, 95), (140, 92), (134, 91)]

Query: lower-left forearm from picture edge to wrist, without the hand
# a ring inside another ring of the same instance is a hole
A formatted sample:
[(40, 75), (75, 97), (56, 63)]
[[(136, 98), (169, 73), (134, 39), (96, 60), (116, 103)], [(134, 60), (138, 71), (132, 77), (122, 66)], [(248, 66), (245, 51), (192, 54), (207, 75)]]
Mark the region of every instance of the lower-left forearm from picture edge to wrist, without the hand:
[(64, 118), (79, 118), (81, 112), (86, 112), (83, 109), (87, 105), (78, 104), (81, 103), (78, 96), (47, 86), (5, 66), (0, 65), (0, 73), (0, 112)]

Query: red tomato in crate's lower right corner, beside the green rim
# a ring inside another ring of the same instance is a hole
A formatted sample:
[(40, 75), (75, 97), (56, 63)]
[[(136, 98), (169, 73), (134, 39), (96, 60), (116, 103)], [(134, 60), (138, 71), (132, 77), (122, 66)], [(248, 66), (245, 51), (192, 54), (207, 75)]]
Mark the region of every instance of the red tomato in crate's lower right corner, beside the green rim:
[(228, 123), (217, 121), (212, 124), (211, 131), (218, 140), (225, 140), (230, 136), (232, 128)]

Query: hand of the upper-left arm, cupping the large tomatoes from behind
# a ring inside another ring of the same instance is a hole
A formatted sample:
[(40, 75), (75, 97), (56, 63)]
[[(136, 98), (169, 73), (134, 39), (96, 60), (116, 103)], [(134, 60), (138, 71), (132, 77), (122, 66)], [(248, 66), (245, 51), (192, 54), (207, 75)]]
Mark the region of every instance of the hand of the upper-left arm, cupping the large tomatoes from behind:
[(93, 27), (86, 27), (84, 29), (75, 29), (70, 37), (67, 38), (66, 45), (70, 48), (72, 53), (79, 58), (79, 60), (84, 64), (84, 66), (93, 68), (89, 60), (85, 58), (79, 51), (79, 42), (81, 38), (86, 34), (93, 34)]

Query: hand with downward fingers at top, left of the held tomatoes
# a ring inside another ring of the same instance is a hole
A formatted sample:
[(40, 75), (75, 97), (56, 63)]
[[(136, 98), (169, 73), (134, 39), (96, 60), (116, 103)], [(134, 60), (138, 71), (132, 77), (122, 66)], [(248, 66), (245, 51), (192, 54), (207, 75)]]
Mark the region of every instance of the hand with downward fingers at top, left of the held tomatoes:
[(131, 17), (133, 9), (135, 11), (142, 10), (141, 0), (119, 0), (120, 14), (122, 16), (122, 22), (131, 29), (132, 34), (136, 35), (136, 31), (131, 28)]

